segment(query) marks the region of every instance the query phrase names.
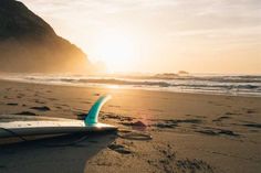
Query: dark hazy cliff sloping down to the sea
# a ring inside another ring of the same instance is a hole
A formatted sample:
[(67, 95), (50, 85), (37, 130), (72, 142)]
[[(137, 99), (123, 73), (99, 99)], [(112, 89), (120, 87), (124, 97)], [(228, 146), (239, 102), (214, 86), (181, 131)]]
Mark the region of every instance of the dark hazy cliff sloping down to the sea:
[(86, 55), (15, 0), (0, 0), (0, 72), (90, 73)]

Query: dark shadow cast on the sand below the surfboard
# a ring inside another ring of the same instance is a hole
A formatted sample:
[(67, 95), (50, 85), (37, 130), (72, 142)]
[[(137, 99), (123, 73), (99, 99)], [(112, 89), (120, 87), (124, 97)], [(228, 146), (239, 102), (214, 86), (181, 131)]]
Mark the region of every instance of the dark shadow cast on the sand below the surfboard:
[(115, 138), (113, 132), (103, 132), (0, 144), (0, 172), (82, 173), (86, 161)]

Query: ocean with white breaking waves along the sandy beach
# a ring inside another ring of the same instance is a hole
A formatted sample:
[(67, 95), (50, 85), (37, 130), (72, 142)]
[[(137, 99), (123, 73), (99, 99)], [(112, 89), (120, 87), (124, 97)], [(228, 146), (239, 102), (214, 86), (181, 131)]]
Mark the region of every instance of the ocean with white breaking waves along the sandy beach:
[(181, 75), (159, 76), (82, 76), (4, 74), (1, 79), (48, 85), (146, 89), (175, 93), (198, 93), (261, 97), (261, 75)]

